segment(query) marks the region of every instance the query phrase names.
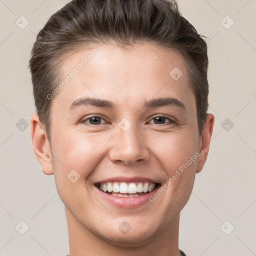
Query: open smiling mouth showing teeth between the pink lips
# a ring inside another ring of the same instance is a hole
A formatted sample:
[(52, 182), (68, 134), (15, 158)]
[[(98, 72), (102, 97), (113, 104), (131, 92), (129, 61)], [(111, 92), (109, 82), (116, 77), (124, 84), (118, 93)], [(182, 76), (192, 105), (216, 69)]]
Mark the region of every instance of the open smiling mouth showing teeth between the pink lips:
[(155, 190), (159, 185), (148, 181), (95, 183), (102, 192), (119, 197), (138, 197)]

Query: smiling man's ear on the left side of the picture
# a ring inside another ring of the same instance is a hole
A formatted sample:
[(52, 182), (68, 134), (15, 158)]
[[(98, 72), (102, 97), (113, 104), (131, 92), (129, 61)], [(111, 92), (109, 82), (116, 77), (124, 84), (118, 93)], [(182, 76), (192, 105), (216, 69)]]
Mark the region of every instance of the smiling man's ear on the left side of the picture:
[(41, 164), (42, 171), (46, 175), (53, 174), (50, 144), (43, 124), (37, 114), (30, 118), (30, 138), (34, 154)]

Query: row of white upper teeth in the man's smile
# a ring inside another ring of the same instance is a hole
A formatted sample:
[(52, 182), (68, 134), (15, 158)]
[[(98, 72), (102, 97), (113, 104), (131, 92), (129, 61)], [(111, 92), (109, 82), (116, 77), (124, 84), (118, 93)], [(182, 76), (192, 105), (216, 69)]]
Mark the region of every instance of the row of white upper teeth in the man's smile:
[[(137, 183), (137, 184), (136, 184)], [(101, 191), (115, 192), (115, 193), (137, 193), (137, 192), (151, 192), (155, 183), (151, 182), (105, 182), (100, 183), (99, 189)]]

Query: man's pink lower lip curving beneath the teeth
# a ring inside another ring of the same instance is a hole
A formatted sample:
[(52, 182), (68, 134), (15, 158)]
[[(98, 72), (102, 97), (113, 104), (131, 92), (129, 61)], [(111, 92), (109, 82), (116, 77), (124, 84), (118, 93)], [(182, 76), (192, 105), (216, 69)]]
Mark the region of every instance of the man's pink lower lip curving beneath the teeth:
[(107, 194), (98, 189), (96, 186), (94, 187), (98, 191), (100, 196), (102, 196), (107, 202), (111, 203), (112, 205), (120, 208), (135, 208), (145, 204), (146, 202), (150, 202), (149, 197), (155, 193), (155, 191), (158, 189), (158, 186), (159, 184), (151, 192), (137, 197), (119, 197)]

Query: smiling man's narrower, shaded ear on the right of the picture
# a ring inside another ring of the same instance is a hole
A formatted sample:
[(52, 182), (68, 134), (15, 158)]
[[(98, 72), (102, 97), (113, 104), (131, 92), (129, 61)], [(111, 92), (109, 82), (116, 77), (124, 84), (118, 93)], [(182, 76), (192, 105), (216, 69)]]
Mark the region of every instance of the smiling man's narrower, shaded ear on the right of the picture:
[(207, 114), (205, 123), (203, 125), (202, 134), (200, 136), (199, 141), (199, 151), (200, 156), (198, 157), (197, 166), (196, 166), (196, 173), (200, 172), (202, 170), (202, 167), (206, 161), (209, 146), (210, 146), (210, 138), (213, 130), (213, 124), (214, 124), (214, 115), (213, 114)]

